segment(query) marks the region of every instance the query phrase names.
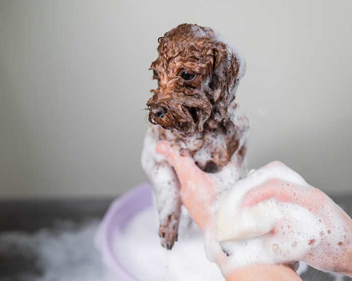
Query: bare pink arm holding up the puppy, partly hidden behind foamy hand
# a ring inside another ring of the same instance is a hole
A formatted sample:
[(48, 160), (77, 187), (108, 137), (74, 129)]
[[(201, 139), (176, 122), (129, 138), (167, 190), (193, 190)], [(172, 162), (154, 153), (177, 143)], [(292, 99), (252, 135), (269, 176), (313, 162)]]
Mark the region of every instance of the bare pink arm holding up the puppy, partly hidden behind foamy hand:
[[(209, 174), (201, 171), (190, 157), (182, 157), (176, 153), (167, 142), (160, 142), (156, 151), (165, 155), (173, 165), (181, 182), (181, 195), (186, 208), (197, 225), (204, 229), (211, 219), (211, 207), (213, 206), (217, 186)], [(200, 197), (205, 190), (209, 197)], [(290, 266), (258, 264), (246, 266), (232, 271), (226, 281), (302, 281), (298, 274)]]

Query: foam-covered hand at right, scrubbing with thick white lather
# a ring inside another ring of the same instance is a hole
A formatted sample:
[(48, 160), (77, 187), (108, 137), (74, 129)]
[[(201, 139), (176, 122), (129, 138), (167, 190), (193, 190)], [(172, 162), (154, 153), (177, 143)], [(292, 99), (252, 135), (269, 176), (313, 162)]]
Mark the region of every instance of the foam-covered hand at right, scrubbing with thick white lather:
[(210, 225), (206, 246), (219, 255), (221, 242), (228, 255), (225, 275), (248, 264), (297, 260), (348, 272), (352, 241), (343, 211), (284, 164), (272, 162), (250, 173), (217, 204), (216, 233)]

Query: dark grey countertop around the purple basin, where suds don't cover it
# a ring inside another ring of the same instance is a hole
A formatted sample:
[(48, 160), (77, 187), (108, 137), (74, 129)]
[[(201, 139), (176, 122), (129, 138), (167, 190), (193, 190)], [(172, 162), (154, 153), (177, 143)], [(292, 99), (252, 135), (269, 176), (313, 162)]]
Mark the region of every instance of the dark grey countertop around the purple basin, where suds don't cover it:
[[(352, 194), (331, 196), (349, 215), (352, 215)], [(100, 220), (112, 198), (105, 199), (45, 199), (45, 200), (0, 200), (0, 235), (25, 233), (31, 235), (41, 229), (54, 231), (58, 222), (69, 221), (70, 225), (82, 225), (87, 221)], [(1, 238), (1, 236), (0, 236)], [(36, 262), (36, 256), (12, 255), (0, 239), (0, 281), (32, 281), (63, 279), (40, 276), (43, 270)], [(8, 241), (5, 239), (5, 241)], [(19, 247), (19, 243), (14, 244)], [(19, 251), (21, 253), (21, 251)], [(334, 280), (335, 278), (309, 267), (301, 274), (303, 280)], [(352, 280), (343, 277), (341, 280)], [(80, 281), (80, 280), (79, 280)]]

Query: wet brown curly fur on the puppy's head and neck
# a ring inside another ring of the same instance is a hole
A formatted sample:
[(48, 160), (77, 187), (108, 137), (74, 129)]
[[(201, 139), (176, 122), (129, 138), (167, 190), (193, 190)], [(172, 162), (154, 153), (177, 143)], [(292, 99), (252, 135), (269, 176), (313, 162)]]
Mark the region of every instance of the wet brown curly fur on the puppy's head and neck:
[[(239, 70), (236, 56), (225, 43), (217, 40), (212, 29), (197, 25), (179, 25), (158, 42), (158, 58), (151, 63), (158, 87), (150, 90), (153, 96), (147, 102), (149, 121), (171, 129), (184, 143), (196, 132), (202, 132), (203, 136), (207, 132), (224, 134), (225, 145), (211, 148), (212, 160), (198, 164), (205, 171), (216, 172), (238, 149), (234, 124), (226, 119), (228, 106), (235, 98), (233, 90)], [(181, 77), (184, 71), (196, 77), (186, 81)], [(153, 113), (156, 108), (165, 110), (161, 118)], [(167, 138), (163, 129), (159, 135)], [(198, 149), (204, 145), (212, 146), (211, 142), (201, 139)], [(190, 155), (196, 151), (197, 148), (185, 147), (185, 153)], [(243, 147), (243, 157), (244, 153)]]

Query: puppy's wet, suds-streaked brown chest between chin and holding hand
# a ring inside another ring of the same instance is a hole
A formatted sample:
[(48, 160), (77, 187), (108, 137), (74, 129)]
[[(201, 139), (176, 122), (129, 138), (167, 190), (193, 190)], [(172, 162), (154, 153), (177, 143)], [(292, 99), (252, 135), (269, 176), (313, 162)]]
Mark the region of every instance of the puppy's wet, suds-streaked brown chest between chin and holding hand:
[(158, 128), (159, 139), (180, 147), (181, 155), (190, 155), (197, 166), (205, 172), (219, 172), (239, 147), (236, 133), (224, 129), (196, 132), (183, 136), (178, 131)]

